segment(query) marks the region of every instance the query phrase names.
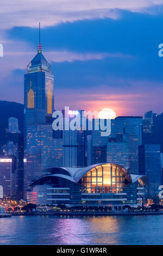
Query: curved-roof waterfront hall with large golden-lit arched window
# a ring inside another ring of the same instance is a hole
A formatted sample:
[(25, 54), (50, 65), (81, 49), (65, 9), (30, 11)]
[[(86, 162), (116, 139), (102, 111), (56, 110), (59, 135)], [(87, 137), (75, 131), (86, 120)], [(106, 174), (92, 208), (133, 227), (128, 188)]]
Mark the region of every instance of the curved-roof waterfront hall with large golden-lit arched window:
[(138, 199), (142, 202), (147, 177), (129, 174), (126, 168), (118, 164), (101, 163), (84, 168), (55, 167), (46, 169), (45, 176), (32, 182), (28, 198), (37, 194), (37, 204), (114, 205), (122, 208), (128, 203), (128, 196), (131, 196), (124, 189), (134, 182), (137, 185), (134, 193), (137, 193), (137, 197), (139, 194)]

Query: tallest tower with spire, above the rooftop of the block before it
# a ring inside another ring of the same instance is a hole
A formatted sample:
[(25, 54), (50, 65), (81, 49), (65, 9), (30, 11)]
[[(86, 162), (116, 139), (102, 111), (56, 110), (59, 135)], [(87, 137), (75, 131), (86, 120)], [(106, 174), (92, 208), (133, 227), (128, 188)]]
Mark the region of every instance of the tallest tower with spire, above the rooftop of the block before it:
[(54, 76), (51, 74), (51, 65), (42, 55), (40, 24), (37, 54), (27, 65), (27, 74), (24, 75), (24, 107), (26, 125), (48, 123), (52, 118)]

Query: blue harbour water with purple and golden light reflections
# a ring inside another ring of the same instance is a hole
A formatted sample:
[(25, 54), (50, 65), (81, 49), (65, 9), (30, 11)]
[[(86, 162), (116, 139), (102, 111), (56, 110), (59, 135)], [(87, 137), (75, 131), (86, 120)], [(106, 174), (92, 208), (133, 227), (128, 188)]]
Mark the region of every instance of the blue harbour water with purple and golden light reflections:
[(163, 216), (0, 218), (0, 245), (162, 245)]

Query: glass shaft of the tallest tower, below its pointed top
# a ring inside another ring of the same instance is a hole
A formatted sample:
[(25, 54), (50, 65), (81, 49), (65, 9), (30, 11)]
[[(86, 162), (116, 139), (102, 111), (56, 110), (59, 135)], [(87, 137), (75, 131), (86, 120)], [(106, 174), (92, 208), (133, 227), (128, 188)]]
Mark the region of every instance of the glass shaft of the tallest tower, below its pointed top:
[[(52, 74), (37, 71), (24, 75), (24, 105), (28, 110), (26, 111), (27, 125), (38, 123), (37, 115), (39, 114), (42, 123), (45, 123), (47, 117), (52, 117), (54, 111), (54, 76)], [(34, 112), (34, 119), (28, 118), (30, 110)]]

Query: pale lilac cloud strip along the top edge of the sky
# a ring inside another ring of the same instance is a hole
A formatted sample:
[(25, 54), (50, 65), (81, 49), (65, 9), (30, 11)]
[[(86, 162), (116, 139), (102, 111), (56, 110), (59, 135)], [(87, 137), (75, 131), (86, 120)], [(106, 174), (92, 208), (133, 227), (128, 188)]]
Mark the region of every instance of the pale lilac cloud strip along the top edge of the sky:
[(1, 0), (1, 29), (12, 27), (43, 27), (62, 22), (88, 19), (118, 19), (119, 10), (149, 12), (149, 8), (160, 6), (163, 0)]

